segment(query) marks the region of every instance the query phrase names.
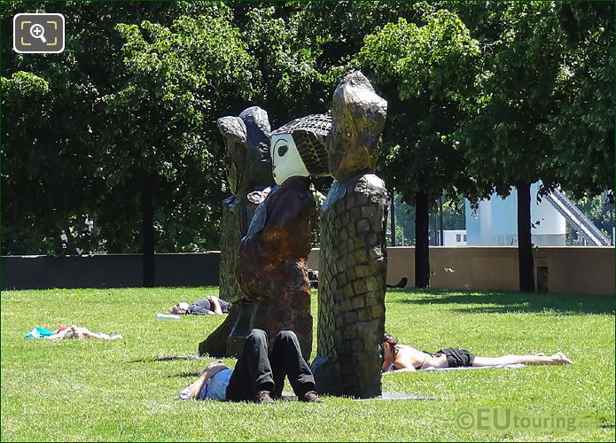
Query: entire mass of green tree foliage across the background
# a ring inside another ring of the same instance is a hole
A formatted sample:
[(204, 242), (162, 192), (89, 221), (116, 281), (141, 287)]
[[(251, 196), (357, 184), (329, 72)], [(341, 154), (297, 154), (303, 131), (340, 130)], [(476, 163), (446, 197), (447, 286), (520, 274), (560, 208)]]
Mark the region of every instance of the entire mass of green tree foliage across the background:
[(357, 66), (389, 103), (379, 169), (406, 202), (613, 190), (611, 3), (14, 2), (4, 42), (47, 11), (63, 53), (1, 50), (3, 253), (137, 252), (144, 189), (157, 251), (215, 247), (216, 118), (326, 112)]

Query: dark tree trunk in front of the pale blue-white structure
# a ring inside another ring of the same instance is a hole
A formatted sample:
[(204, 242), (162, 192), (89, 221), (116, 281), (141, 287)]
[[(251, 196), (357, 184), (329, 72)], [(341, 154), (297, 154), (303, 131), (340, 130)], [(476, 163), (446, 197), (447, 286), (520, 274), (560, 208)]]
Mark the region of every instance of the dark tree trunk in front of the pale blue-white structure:
[(519, 183), (518, 188), (518, 267), (519, 290), (534, 292), (534, 260), (531, 243), (530, 184)]

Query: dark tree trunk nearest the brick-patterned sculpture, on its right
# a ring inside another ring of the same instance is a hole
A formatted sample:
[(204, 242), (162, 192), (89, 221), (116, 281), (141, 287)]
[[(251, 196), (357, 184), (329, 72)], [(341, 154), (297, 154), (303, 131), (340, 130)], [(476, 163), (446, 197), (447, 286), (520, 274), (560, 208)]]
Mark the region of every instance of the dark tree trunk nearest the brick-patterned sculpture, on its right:
[(428, 195), (425, 192), (415, 194), (415, 286), (430, 286), (430, 213), (428, 212)]

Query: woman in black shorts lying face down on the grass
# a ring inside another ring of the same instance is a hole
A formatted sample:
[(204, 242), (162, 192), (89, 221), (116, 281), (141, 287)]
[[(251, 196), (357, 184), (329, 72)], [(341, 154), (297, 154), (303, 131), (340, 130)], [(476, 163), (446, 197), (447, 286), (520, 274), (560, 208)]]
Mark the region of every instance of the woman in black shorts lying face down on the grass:
[(398, 339), (392, 334), (385, 333), (383, 336), (383, 372), (393, 370), (415, 371), (427, 368), (460, 368), (497, 366), (505, 364), (569, 364), (565, 354), (554, 355), (503, 355), (502, 357), (480, 357), (465, 349), (448, 347), (441, 349), (436, 354), (418, 351), (414, 347), (398, 344)]

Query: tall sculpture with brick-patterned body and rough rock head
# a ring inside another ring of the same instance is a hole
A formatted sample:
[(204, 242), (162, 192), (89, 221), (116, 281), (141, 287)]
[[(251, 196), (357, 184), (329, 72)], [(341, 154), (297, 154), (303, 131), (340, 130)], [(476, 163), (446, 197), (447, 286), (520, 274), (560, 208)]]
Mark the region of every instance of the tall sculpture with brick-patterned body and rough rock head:
[(385, 183), (374, 174), (386, 101), (359, 71), (335, 90), (329, 170), (335, 178), (321, 209), (317, 392), (359, 398), (381, 394), (385, 330)]

